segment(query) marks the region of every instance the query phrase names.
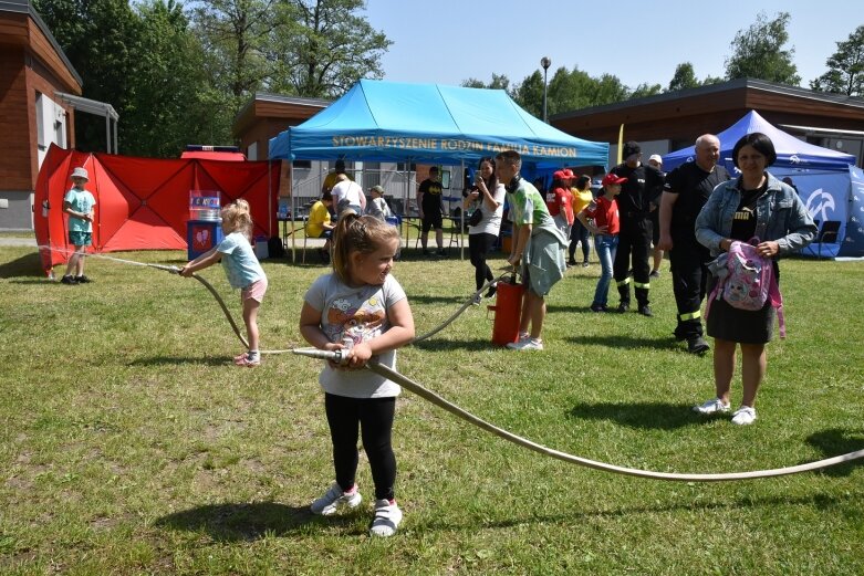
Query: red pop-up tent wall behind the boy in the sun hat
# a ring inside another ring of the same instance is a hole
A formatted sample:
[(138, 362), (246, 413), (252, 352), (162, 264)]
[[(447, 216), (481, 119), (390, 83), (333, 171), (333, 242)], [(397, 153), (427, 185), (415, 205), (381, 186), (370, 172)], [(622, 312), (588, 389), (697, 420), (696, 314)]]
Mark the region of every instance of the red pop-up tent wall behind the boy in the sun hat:
[(73, 168), (90, 174), (86, 188), (96, 198), (91, 252), (184, 250), (189, 190), (218, 190), (222, 206), (249, 202), (253, 235), (278, 235), (279, 161), (155, 159), (87, 154), (54, 145), (39, 171), (33, 224), (43, 268), (67, 260), (67, 217), (63, 197)]

